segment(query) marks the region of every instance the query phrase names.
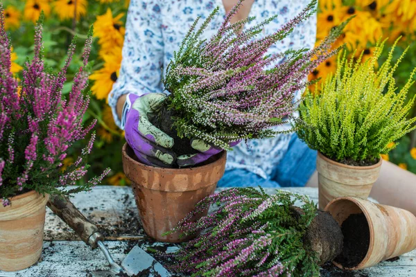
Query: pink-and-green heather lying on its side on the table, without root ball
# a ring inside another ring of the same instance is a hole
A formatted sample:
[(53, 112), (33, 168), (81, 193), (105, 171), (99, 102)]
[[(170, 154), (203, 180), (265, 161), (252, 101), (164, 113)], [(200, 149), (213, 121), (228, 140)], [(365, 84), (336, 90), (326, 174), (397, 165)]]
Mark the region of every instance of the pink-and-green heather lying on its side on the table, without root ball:
[[(294, 210), (297, 200), (304, 202), (303, 213)], [(218, 210), (193, 221), (213, 204)], [(283, 190), (267, 195), (261, 188), (231, 188), (210, 195), (173, 229), (202, 233), (171, 254), (172, 269), (192, 276), (319, 276), (318, 257), (304, 240), (316, 211), (308, 197)]]

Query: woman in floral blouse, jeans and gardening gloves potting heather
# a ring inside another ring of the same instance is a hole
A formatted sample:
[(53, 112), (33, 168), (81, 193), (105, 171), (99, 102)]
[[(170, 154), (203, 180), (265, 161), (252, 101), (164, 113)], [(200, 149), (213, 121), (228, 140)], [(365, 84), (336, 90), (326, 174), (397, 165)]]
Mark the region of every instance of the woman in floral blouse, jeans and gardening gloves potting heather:
[[(166, 3), (167, 2), (167, 3)], [(125, 129), (126, 140), (143, 163), (157, 166), (170, 165), (174, 161), (182, 166), (205, 161), (218, 150), (203, 141), (192, 141), (191, 146), (198, 154), (177, 157), (170, 148), (173, 139), (153, 126), (148, 120), (151, 114), (166, 97), (162, 87), (161, 68), (168, 62), (186, 35), (189, 27), (200, 16), (207, 17), (215, 6), (220, 6), (220, 15), (214, 18), (205, 30), (209, 38), (216, 33), (238, 0), (182, 0), (162, 1), (132, 0), (126, 22), (123, 62), (119, 78), (109, 96), (114, 119)], [(274, 33), (282, 24), (297, 15), (309, 3), (300, 1), (245, 0), (232, 22), (256, 17), (248, 26), (278, 15), (266, 25), (260, 35)], [(297, 26), (284, 42), (272, 46), (271, 53), (281, 53), (288, 48), (312, 48), (315, 43), (316, 18), (310, 17)], [(279, 126), (279, 130), (290, 129), (289, 124)], [(317, 186), (315, 173), (316, 152), (310, 150), (296, 134), (280, 134), (274, 139), (240, 143), (227, 156), (227, 168), (218, 186)], [(401, 182), (409, 194), (392, 197), (390, 192), (397, 190), (392, 181)], [(381, 177), (372, 195), (380, 202), (401, 206), (416, 213), (416, 176), (401, 170), (391, 163), (383, 163)], [(401, 200), (401, 202), (400, 202)], [(399, 203), (400, 202), (400, 203)]]

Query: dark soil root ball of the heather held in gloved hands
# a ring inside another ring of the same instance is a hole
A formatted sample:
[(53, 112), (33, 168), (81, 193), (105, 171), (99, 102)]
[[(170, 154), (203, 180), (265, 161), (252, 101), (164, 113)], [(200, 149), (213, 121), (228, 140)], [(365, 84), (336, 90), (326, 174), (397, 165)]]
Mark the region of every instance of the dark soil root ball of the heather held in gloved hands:
[(187, 138), (180, 139), (179, 136), (177, 136), (177, 130), (175, 127), (173, 127), (173, 118), (175, 116), (178, 116), (175, 114), (175, 111), (173, 109), (168, 109), (167, 105), (162, 105), (162, 108), (159, 111), (159, 114), (156, 116), (150, 117), (150, 123), (158, 127), (162, 130), (165, 134), (168, 134), (168, 136), (171, 136), (173, 138), (173, 141), (175, 142), (173, 144), (173, 152), (177, 154), (177, 156), (184, 155), (184, 154), (196, 154), (198, 151), (191, 148), (191, 140)]

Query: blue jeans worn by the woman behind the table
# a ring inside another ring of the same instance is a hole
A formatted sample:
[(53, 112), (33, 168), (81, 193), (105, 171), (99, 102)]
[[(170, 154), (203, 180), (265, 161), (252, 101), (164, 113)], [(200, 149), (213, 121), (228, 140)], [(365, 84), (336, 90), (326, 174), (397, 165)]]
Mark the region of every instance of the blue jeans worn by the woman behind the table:
[(218, 187), (248, 187), (279, 188), (287, 186), (305, 186), (316, 170), (317, 152), (293, 134), (288, 151), (276, 166), (269, 179), (243, 169), (227, 170)]

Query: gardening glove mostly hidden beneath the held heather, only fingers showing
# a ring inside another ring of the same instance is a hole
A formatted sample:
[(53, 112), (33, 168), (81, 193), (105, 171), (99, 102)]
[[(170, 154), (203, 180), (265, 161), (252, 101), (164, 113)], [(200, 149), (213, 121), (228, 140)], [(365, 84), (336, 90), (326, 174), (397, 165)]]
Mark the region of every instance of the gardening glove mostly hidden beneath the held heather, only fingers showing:
[[(233, 146), (239, 144), (240, 141), (236, 141), (234, 143), (230, 143), (229, 147), (232, 148)], [(201, 139), (191, 139), (191, 148), (199, 151), (196, 154), (189, 154), (189, 155), (181, 155), (177, 157), (177, 165), (178, 166), (194, 166), (198, 163), (202, 163), (207, 161), (207, 159), (211, 158), (215, 154), (223, 151), (221, 148), (216, 148), (213, 145), (205, 143)]]

